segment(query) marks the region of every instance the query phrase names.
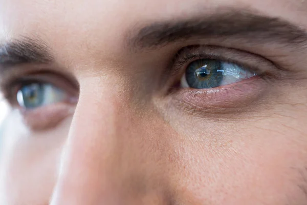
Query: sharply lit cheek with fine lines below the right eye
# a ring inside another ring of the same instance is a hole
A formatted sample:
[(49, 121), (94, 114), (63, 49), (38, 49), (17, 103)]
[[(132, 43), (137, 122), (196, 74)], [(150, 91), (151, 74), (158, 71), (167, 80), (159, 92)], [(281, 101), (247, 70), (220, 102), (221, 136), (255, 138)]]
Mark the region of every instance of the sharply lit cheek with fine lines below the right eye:
[(245, 129), (214, 122), (206, 133), (201, 130), (207, 126), (194, 124), (202, 134), (185, 136), (174, 189), (191, 204), (303, 202), (307, 143), (300, 132), (276, 129), (282, 120), (289, 121), (242, 122)]

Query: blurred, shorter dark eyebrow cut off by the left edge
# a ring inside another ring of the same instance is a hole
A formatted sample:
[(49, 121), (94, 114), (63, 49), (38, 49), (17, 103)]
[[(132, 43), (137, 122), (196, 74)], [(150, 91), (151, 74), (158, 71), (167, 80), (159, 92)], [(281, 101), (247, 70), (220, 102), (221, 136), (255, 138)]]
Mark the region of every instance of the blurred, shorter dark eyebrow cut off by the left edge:
[(21, 37), (0, 43), (0, 67), (10, 67), (26, 63), (50, 63), (53, 57), (50, 48), (38, 38)]

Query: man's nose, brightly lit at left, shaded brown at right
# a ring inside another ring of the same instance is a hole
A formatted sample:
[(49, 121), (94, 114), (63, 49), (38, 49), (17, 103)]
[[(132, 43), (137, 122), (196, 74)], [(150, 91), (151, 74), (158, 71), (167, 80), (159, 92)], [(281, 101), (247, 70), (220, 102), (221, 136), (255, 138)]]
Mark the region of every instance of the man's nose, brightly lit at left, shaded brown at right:
[(171, 204), (174, 132), (155, 106), (122, 87), (80, 88), (51, 205)]

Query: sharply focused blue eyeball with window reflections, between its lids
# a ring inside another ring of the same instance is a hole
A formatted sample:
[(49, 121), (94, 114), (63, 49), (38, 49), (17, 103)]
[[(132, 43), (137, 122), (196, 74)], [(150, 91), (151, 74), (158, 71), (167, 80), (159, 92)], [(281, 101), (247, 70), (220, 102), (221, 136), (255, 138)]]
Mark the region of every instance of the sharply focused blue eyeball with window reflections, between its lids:
[(199, 59), (193, 61), (186, 69), (181, 79), (183, 88), (214, 88), (237, 83), (255, 76), (236, 64), (214, 59)]

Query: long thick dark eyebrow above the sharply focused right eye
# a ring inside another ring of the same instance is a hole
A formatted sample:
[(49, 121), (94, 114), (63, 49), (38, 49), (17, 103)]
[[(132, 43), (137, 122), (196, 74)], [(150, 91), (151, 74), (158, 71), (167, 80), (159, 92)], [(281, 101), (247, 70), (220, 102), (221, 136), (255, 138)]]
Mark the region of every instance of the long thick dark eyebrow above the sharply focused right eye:
[[(136, 32), (135, 32), (136, 31)], [(184, 20), (154, 22), (127, 32), (129, 50), (155, 49), (190, 38), (242, 38), (253, 43), (305, 44), (302, 28), (277, 17), (227, 10)]]

